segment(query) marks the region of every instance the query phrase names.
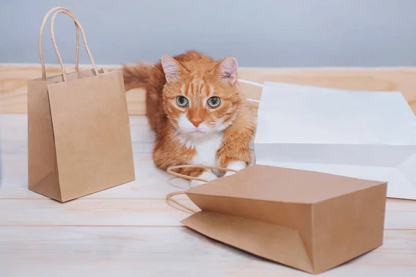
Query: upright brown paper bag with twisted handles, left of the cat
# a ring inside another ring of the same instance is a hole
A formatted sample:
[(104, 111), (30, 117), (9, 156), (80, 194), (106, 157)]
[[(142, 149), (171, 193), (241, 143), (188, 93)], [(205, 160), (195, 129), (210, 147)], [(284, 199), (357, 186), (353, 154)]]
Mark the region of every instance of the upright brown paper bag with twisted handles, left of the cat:
[[(51, 19), (62, 68), (46, 78), (42, 33)], [(76, 72), (67, 74), (53, 22), (63, 12), (77, 28)], [(78, 28), (94, 69), (78, 70)], [(130, 122), (121, 72), (96, 68), (83, 27), (66, 8), (44, 17), (39, 40), (42, 78), (28, 81), (28, 189), (64, 202), (135, 179)]]

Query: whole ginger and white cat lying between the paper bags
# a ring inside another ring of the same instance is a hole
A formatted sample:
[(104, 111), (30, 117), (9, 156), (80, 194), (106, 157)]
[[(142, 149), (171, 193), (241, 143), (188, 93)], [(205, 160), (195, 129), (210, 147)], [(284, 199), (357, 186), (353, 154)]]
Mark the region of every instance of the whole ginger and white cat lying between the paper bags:
[[(164, 55), (156, 65), (123, 67), (126, 90), (147, 90), (157, 167), (211, 165), (240, 170), (250, 164), (255, 125), (237, 85), (237, 69), (232, 56), (215, 61), (196, 51), (174, 58)], [(224, 174), (198, 168), (177, 172), (207, 181)], [(191, 186), (200, 183), (191, 181)]]

